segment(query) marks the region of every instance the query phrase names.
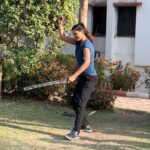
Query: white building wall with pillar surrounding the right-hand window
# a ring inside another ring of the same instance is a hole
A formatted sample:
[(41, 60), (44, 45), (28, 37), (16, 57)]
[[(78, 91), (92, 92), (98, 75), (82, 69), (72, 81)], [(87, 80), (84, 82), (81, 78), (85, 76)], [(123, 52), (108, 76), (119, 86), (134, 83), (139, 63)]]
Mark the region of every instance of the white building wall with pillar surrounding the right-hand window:
[[(117, 37), (117, 8), (114, 2), (142, 2), (137, 7), (135, 38)], [(107, 34), (105, 57), (130, 62), (135, 66), (150, 66), (150, 1), (149, 0), (107, 0)]]

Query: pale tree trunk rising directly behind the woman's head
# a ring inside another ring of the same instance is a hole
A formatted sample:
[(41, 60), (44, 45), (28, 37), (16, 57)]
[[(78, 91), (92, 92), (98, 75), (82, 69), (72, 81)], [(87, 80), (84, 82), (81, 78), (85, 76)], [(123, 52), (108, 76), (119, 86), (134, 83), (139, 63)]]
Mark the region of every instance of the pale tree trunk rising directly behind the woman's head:
[(80, 0), (80, 22), (87, 26), (88, 0)]

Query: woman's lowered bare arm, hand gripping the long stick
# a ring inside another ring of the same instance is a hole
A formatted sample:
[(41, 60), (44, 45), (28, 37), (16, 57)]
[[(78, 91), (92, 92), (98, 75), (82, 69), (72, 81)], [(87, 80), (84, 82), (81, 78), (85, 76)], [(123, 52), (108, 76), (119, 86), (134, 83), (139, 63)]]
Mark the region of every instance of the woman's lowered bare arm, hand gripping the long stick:
[(69, 77), (69, 82), (73, 82), (76, 78), (83, 73), (90, 65), (90, 49), (84, 49), (84, 63), (83, 65), (72, 75)]

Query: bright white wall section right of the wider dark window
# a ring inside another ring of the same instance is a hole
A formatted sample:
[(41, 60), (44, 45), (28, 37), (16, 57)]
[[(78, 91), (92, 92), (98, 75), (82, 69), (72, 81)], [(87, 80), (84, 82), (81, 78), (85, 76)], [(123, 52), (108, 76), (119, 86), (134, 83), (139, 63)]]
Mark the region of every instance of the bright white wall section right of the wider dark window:
[(137, 10), (134, 65), (150, 66), (150, 0)]

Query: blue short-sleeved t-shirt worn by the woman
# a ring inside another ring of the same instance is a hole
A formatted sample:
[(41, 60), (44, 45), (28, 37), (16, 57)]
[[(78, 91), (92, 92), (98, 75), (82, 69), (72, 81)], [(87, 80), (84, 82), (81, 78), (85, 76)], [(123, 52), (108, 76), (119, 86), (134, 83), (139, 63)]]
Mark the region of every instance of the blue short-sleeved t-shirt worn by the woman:
[(97, 76), (97, 73), (94, 67), (95, 50), (94, 50), (93, 43), (89, 39), (87, 39), (83, 44), (81, 44), (80, 42), (76, 43), (75, 56), (78, 62), (78, 67), (81, 67), (84, 63), (84, 49), (85, 48), (90, 49), (90, 65), (81, 75)]

